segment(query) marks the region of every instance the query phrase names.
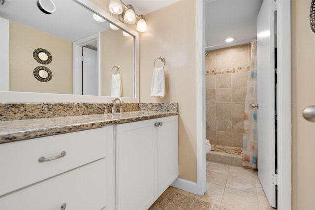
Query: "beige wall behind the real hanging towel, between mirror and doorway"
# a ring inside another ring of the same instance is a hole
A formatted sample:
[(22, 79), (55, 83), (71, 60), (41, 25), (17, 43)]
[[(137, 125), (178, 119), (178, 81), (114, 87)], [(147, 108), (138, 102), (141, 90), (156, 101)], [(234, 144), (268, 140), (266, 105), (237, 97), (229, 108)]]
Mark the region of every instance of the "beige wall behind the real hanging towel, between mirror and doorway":
[[(179, 103), (179, 176), (195, 182), (196, 1), (181, 0), (145, 17), (148, 30), (140, 33), (140, 102)], [(153, 63), (159, 56), (166, 60), (164, 98), (150, 96)]]

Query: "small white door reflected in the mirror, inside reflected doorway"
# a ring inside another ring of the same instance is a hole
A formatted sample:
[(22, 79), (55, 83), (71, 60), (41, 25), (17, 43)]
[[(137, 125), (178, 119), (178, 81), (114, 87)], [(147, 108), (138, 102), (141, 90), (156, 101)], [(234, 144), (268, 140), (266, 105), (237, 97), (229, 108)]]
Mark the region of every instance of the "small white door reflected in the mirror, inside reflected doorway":
[(98, 95), (97, 51), (82, 47), (83, 95)]

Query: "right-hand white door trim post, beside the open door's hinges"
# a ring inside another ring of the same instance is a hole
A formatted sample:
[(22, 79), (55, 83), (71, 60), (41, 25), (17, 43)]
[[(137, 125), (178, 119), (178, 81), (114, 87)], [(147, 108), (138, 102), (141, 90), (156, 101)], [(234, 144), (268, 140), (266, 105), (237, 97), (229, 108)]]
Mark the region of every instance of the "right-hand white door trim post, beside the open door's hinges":
[(291, 2), (277, 0), (278, 210), (291, 209)]

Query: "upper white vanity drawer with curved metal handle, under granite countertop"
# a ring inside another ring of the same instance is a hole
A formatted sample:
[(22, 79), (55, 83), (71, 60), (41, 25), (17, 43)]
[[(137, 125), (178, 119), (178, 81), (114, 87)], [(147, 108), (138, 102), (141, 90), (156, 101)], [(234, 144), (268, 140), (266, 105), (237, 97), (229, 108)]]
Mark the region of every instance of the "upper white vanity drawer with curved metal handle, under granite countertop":
[[(39, 162), (40, 157), (63, 157)], [(0, 195), (106, 156), (106, 128), (0, 145)]]

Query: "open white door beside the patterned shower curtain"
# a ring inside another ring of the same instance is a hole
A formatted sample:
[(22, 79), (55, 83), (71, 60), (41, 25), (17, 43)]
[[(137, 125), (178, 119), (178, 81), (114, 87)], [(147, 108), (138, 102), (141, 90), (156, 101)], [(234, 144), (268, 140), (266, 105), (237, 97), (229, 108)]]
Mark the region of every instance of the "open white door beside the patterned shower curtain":
[(258, 178), (272, 207), (276, 207), (274, 8), (273, 0), (264, 0), (257, 17)]

